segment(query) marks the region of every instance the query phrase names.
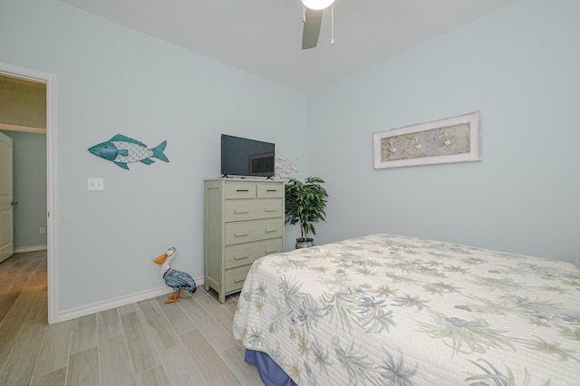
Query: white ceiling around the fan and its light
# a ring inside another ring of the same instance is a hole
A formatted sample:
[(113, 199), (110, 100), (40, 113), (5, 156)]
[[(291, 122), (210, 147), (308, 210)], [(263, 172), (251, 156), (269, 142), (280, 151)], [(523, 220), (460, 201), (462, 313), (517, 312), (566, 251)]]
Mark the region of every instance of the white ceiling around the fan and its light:
[(309, 92), (516, 0), (336, 0), (302, 50), (301, 0), (61, 0)]

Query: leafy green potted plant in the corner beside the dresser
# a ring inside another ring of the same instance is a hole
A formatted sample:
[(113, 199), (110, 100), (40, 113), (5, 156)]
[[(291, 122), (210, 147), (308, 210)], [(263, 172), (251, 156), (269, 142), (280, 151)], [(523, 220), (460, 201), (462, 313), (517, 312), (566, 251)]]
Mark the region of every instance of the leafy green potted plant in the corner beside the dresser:
[(296, 238), (296, 248), (314, 246), (308, 233), (316, 234), (314, 223), (325, 220), (326, 198), (328, 193), (322, 187), (323, 179), (309, 177), (300, 182), (290, 179), (285, 185), (285, 223), (300, 223), (300, 238)]

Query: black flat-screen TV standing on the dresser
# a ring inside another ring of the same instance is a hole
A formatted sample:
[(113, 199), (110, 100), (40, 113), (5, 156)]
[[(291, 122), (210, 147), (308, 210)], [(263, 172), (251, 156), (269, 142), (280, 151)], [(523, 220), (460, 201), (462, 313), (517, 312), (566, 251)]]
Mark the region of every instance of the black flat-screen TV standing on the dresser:
[(274, 176), (275, 144), (221, 135), (223, 176)]

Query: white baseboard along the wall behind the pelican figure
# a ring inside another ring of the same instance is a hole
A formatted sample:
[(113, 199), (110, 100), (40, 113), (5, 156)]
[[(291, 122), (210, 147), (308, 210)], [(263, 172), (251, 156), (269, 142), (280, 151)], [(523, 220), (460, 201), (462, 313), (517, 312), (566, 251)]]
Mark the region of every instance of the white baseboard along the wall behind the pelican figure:
[[(203, 286), (204, 278), (195, 278), (198, 287)], [(97, 302), (93, 304), (82, 305), (81, 307), (73, 308), (70, 310), (64, 310), (59, 313), (58, 322), (64, 322), (75, 318), (80, 318), (81, 316), (86, 316), (90, 314), (100, 313), (102, 311), (111, 310), (111, 308), (121, 307), (121, 305), (127, 305), (131, 303), (141, 302), (143, 300), (152, 299), (163, 294), (169, 294), (171, 288), (164, 285), (159, 288), (153, 288), (146, 291), (141, 291), (136, 294), (128, 294), (126, 296), (117, 297), (110, 300), (105, 300), (102, 302)]]

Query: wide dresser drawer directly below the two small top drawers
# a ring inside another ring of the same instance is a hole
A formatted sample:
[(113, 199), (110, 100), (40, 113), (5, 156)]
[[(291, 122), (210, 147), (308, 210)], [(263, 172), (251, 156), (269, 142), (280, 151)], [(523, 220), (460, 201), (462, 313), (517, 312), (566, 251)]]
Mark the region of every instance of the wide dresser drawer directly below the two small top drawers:
[(227, 199), (224, 205), (227, 222), (284, 216), (282, 198)]

